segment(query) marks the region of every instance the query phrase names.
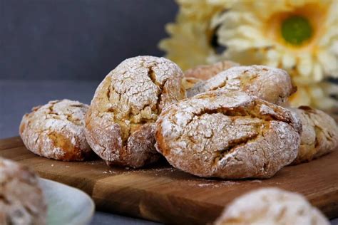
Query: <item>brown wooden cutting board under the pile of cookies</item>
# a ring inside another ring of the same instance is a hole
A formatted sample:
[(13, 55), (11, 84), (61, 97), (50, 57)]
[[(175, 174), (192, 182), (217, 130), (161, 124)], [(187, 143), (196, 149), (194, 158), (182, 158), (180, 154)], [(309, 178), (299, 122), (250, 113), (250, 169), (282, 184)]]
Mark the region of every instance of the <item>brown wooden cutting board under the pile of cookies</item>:
[(302, 193), (329, 218), (338, 216), (338, 150), (285, 167), (271, 179), (241, 181), (201, 179), (165, 162), (138, 170), (109, 168), (101, 159), (59, 162), (32, 154), (20, 137), (0, 140), (0, 156), (29, 165), (43, 178), (82, 189), (97, 209), (164, 223), (214, 221), (232, 199), (260, 187)]

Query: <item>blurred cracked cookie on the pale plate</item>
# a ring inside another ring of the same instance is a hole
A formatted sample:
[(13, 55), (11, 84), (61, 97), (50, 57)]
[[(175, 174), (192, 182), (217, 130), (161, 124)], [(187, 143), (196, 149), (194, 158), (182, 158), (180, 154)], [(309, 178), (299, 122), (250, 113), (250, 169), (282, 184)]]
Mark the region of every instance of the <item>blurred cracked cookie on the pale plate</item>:
[(47, 205), (38, 177), (0, 157), (0, 224), (46, 224)]

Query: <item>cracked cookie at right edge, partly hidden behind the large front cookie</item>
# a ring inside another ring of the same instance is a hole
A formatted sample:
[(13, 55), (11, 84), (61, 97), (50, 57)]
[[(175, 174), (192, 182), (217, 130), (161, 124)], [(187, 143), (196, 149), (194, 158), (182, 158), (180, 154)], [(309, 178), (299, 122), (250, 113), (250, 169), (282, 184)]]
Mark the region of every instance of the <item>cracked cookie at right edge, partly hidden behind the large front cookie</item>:
[(338, 127), (332, 117), (309, 106), (291, 108), (302, 121), (302, 136), (297, 158), (292, 164), (309, 162), (312, 159), (337, 150)]

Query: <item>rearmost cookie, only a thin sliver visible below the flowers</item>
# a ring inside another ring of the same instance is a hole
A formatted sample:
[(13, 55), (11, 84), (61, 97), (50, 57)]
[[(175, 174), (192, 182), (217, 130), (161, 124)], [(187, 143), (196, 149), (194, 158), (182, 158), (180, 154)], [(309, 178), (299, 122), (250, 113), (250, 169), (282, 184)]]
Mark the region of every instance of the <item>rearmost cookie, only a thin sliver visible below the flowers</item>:
[(184, 72), (186, 78), (198, 78), (200, 80), (208, 80), (228, 68), (240, 66), (240, 64), (232, 61), (220, 61), (210, 65), (200, 65), (195, 68), (190, 68)]

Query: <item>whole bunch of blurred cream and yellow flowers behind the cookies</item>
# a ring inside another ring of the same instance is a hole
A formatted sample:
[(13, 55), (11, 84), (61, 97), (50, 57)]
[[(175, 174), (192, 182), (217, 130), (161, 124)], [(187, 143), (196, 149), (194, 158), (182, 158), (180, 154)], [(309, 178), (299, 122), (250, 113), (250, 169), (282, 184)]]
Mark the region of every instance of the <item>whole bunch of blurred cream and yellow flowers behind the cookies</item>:
[[(290, 104), (337, 107), (338, 1), (178, 0), (160, 41), (183, 70), (229, 59), (287, 70), (298, 91)], [(332, 98), (336, 97), (336, 100)]]

